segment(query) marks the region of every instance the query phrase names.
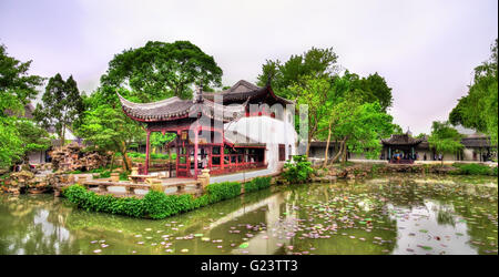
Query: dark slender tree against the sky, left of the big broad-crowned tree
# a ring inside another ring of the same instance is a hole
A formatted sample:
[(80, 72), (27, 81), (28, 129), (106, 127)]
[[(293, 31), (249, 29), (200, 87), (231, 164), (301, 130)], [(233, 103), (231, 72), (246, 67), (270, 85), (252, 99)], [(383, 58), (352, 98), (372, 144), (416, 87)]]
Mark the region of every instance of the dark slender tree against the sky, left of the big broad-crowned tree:
[(62, 146), (65, 130), (72, 129), (73, 122), (80, 119), (84, 110), (83, 100), (73, 76), (69, 76), (67, 81), (62, 80), (59, 73), (51, 78), (43, 93), (42, 103), (37, 104), (34, 119), (43, 127), (54, 127)]

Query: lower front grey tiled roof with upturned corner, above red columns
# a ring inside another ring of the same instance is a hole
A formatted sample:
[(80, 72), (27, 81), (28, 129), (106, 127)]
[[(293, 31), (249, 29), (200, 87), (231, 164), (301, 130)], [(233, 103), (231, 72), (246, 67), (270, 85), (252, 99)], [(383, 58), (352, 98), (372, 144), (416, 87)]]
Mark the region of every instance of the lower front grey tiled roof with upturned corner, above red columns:
[(241, 117), (245, 113), (248, 102), (240, 105), (221, 105), (210, 100), (193, 102), (176, 96), (152, 103), (133, 103), (118, 93), (123, 111), (133, 120), (144, 122), (172, 121), (184, 117), (196, 117), (198, 112), (211, 119), (228, 122)]

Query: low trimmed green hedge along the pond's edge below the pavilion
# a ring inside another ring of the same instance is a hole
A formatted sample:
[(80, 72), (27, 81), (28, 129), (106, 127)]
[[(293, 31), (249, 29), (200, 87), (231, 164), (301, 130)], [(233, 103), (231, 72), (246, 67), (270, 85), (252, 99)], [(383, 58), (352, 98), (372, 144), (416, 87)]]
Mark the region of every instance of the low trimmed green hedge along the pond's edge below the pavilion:
[[(271, 177), (256, 177), (244, 184), (245, 193), (267, 188), (271, 186)], [(240, 196), (242, 187), (238, 182), (224, 182), (207, 185), (205, 194), (200, 197), (193, 197), (190, 194), (166, 195), (163, 192), (150, 191), (143, 198), (138, 198), (115, 197), (111, 194), (99, 195), (74, 184), (65, 187), (62, 195), (69, 202), (89, 212), (162, 219)]]

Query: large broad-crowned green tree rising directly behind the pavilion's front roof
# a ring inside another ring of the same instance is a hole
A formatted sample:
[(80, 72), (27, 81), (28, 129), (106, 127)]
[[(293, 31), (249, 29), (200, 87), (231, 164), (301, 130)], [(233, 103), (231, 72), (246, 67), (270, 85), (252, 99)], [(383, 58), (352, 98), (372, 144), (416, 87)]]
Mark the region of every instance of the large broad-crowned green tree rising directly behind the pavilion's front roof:
[(151, 102), (170, 96), (191, 98), (191, 85), (222, 85), (222, 69), (213, 57), (189, 41), (149, 41), (114, 55), (101, 84), (123, 88)]

